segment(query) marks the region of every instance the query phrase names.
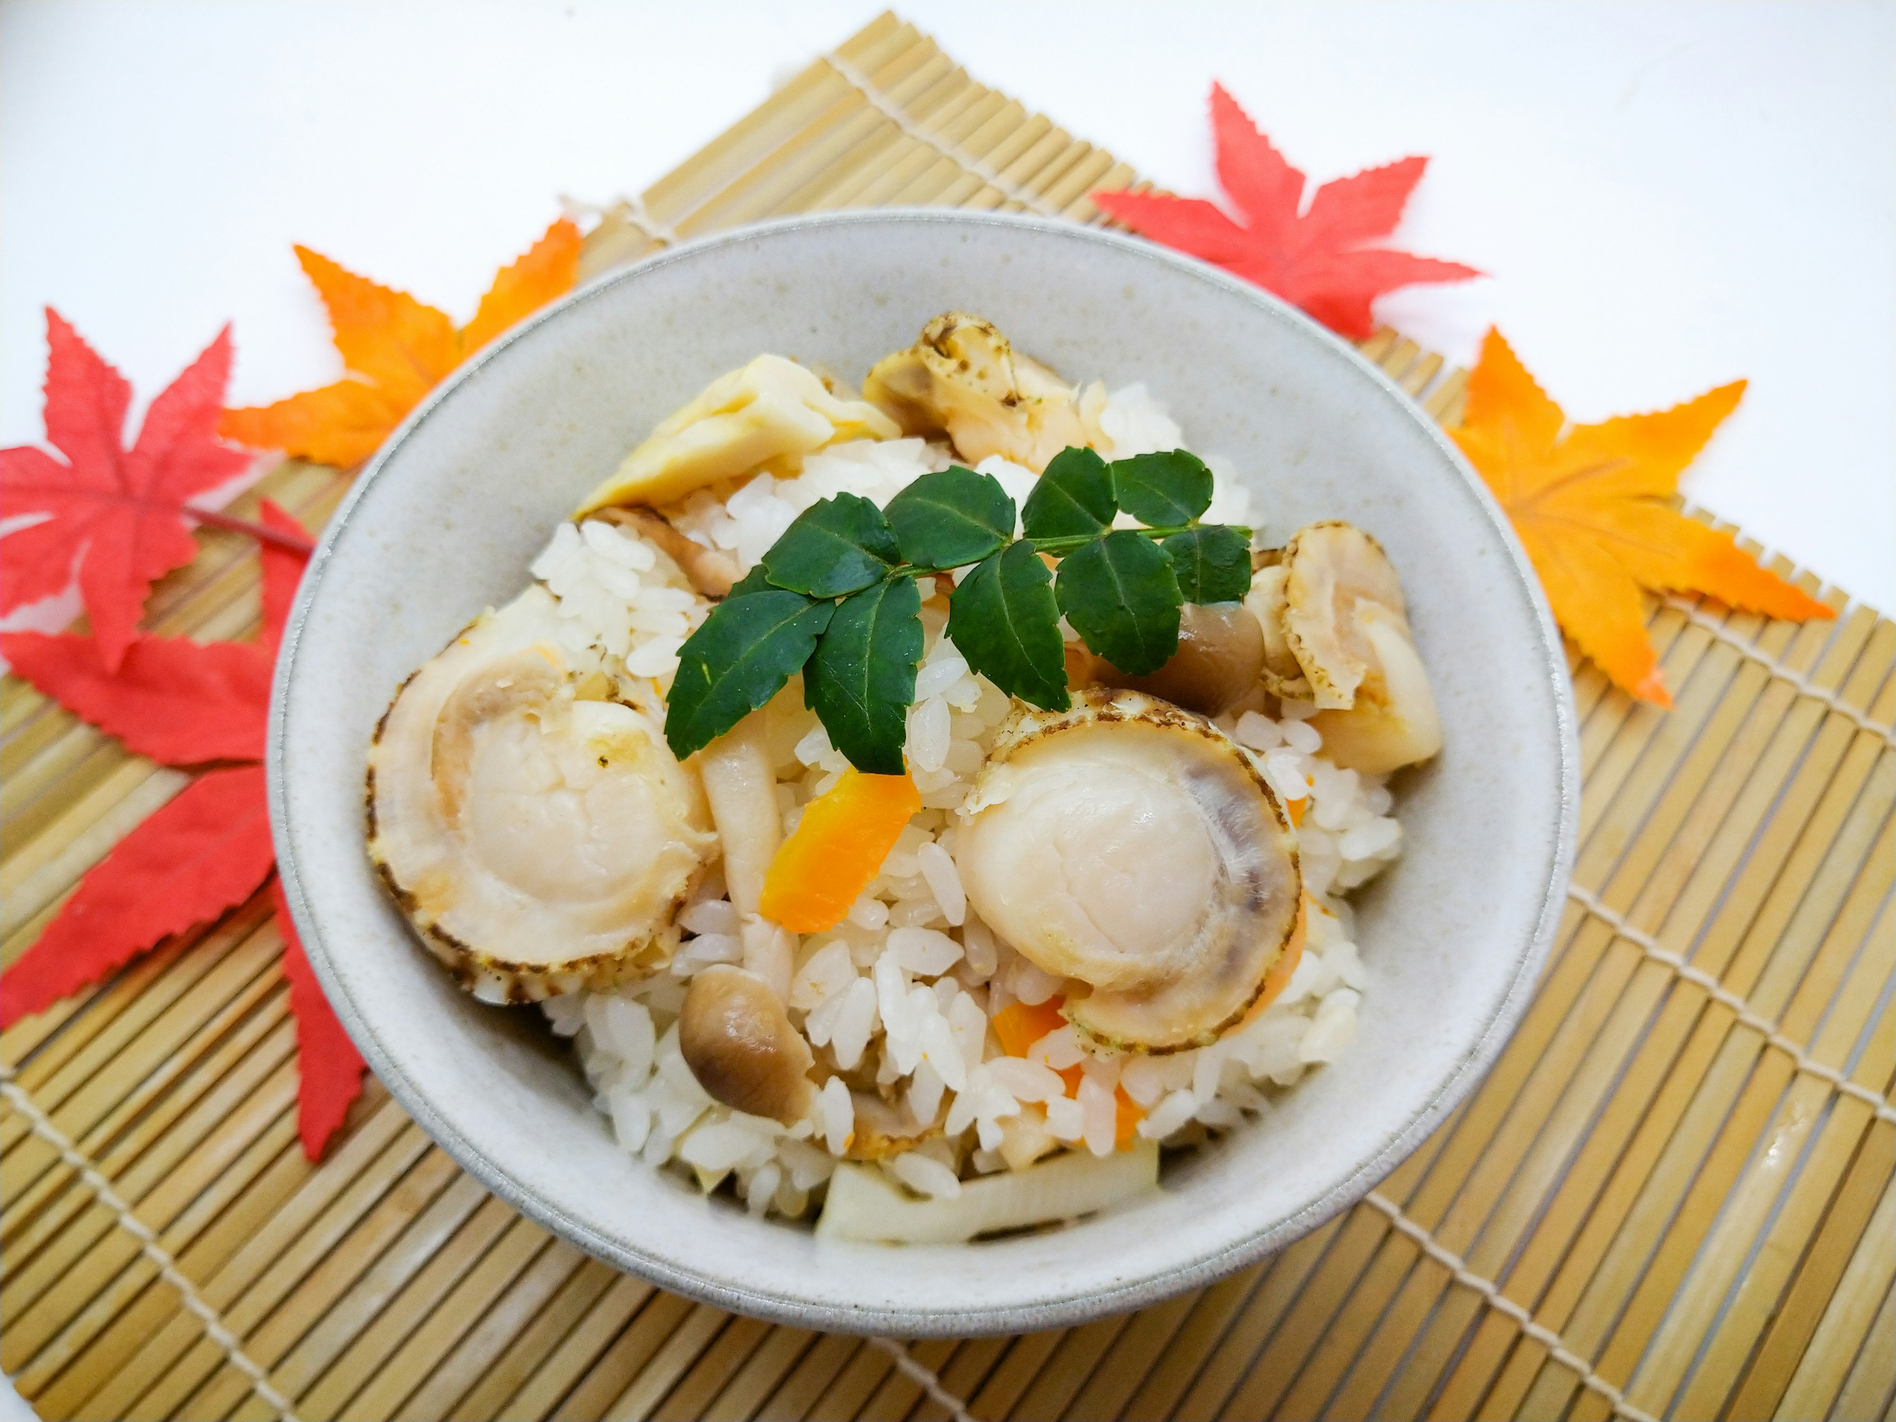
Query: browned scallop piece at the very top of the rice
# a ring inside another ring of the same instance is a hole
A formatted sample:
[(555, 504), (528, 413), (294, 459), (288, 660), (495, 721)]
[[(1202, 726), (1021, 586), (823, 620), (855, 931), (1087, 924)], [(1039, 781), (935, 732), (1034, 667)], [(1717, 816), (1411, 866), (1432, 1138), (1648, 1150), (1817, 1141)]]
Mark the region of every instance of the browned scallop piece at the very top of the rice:
[(863, 398), (902, 434), (946, 434), (969, 461), (1001, 455), (1039, 472), (1086, 444), (1073, 389), (1014, 351), (992, 320), (963, 311), (944, 311), (912, 347), (880, 360)]

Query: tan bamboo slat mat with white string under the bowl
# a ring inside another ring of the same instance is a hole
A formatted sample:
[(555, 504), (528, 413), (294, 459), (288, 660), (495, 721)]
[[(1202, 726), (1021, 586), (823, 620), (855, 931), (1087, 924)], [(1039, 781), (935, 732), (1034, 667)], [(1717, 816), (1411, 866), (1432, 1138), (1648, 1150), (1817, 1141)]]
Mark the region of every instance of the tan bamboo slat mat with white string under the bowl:
[[(586, 265), (836, 207), (1085, 222), (1130, 180), (884, 15), (614, 207)], [(1460, 372), (1363, 349), (1458, 419)], [(258, 493), (315, 525), (343, 478)], [(250, 635), (254, 554), (201, 542), (155, 629)], [(0, 1035), (0, 1361), (47, 1418), (1896, 1416), (1896, 626), (1780, 571), (1839, 618), (1653, 607), (1668, 715), (1576, 665), (1576, 889), (1519, 1033), (1367, 1202), (1210, 1289), (825, 1337), (550, 1238), (374, 1081), (309, 1166), (260, 897)], [(0, 775), (9, 963), (184, 777), (13, 679)]]

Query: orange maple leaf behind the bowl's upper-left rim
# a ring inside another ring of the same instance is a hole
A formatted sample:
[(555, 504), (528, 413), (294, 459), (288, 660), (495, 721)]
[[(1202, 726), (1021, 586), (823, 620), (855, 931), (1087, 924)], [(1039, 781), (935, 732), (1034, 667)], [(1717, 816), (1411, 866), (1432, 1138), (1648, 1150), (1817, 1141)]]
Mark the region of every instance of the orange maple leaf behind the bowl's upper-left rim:
[(252, 449), (349, 468), (360, 465), (442, 377), (521, 317), (573, 288), (580, 229), (559, 218), (523, 258), (501, 267), (461, 330), (408, 292), (377, 286), (307, 246), (296, 248), (330, 311), (347, 375), (273, 406), (226, 410), (218, 434)]

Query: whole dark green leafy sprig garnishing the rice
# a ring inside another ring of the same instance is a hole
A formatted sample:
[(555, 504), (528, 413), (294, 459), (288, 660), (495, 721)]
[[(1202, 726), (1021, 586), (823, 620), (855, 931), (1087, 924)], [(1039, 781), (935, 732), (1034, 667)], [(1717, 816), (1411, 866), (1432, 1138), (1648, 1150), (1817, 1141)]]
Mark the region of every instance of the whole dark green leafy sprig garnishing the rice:
[[(804, 510), (679, 650), (665, 739), (683, 760), (804, 673), (804, 702), (849, 764), (902, 774), (921, 662), (916, 578), (973, 563), (948, 637), (978, 673), (1066, 711), (1060, 616), (1088, 648), (1143, 677), (1177, 650), (1179, 607), (1251, 588), (1251, 531), (1200, 523), (1212, 470), (1185, 449), (1047, 465), (1020, 510), (990, 474), (923, 474), (876, 508), (840, 493)], [(1115, 529), (1126, 512), (1143, 527)], [(1060, 559), (1058, 576), (1041, 557)]]

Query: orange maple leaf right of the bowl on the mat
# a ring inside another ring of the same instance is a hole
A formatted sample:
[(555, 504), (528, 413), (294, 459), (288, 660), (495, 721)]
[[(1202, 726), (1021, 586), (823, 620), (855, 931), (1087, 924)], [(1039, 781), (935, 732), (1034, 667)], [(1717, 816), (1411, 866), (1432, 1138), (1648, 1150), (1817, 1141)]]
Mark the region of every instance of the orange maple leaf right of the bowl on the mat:
[(1498, 330), (1450, 430), (1507, 510), (1560, 628), (1621, 688), (1672, 705), (1646, 637), (1640, 588), (1699, 592), (1775, 618), (1835, 612), (1670, 506), (1678, 476), (1729, 415), (1744, 381), (1650, 415), (1568, 425)]

